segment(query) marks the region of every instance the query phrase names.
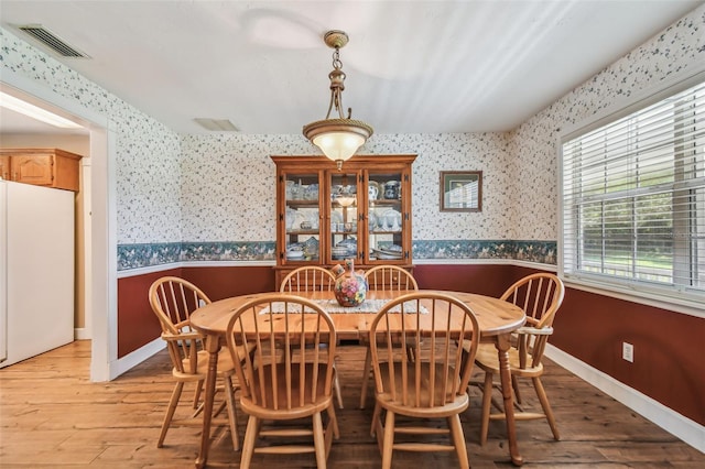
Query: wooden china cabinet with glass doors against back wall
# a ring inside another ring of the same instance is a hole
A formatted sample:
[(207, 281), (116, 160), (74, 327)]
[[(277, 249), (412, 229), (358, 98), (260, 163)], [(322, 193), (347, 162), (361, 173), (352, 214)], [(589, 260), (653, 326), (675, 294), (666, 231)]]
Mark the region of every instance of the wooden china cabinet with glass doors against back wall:
[(302, 265), (352, 259), (411, 269), (411, 164), (415, 155), (356, 155), (340, 171), (324, 156), (276, 164), (276, 283)]

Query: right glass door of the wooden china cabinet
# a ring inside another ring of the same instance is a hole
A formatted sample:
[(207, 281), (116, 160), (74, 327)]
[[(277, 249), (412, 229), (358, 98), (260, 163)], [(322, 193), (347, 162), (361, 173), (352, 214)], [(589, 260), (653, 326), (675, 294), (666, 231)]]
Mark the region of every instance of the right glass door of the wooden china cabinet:
[(402, 261), (409, 258), (410, 247), (404, 243), (404, 230), (409, 223), (402, 192), (404, 174), (400, 171), (367, 174), (367, 259), (380, 263)]

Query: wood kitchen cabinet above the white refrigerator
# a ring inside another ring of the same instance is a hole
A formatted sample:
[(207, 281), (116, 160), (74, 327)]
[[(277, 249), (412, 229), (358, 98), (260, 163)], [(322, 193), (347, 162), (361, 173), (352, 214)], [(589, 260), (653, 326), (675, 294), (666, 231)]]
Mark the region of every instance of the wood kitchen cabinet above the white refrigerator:
[(59, 149), (0, 149), (0, 171), (8, 181), (78, 192), (80, 159)]

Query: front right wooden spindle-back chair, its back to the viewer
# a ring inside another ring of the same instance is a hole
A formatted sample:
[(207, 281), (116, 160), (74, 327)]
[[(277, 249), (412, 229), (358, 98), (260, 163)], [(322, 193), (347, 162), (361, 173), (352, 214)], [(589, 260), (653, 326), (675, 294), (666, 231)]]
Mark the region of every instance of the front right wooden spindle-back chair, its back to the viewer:
[[(425, 312), (422, 305), (426, 307)], [(420, 327), (423, 314), (433, 315), (432, 327)], [(399, 329), (393, 323), (400, 320), (402, 331), (390, 334), (389, 330)], [(382, 452), (382, 468), (391, 467), (394, 449), (455, 450), (459, 466), (469, 467), (459, 414), (469, 404), (467, 386), (478, 343), (470, 339), (477, 334), (479, 327), (473, 310), (455, 297), (437, 292), (400, 296), (384, 305), (375, 317), (369, 337), (376, 386), (372, 421)], [(457, 346), (465, 340), (468, 341), (466, 353)], [(409, 346), (415, 350), (413, 361), (404, 352)], [(383, 412), (387, 415), (382, 423)], [(444, 418), (447, 428), (421, 423), (401, 425), (398, 415), (412, 421)], [(395, 434), (420, 440), (394, 443)], [(440, 434), (449, 434), (451, 441), (438, 440)]]

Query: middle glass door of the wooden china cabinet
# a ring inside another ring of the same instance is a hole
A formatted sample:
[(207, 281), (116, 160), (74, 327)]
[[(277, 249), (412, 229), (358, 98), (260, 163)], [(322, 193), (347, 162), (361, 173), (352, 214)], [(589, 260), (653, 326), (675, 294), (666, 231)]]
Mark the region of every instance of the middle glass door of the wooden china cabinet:
[[(345, 168), (344, 168), (345, 171)], [(358, 172), (330, 172), (329, 221), (330, 260), (359, 259), (358, 246)]]

